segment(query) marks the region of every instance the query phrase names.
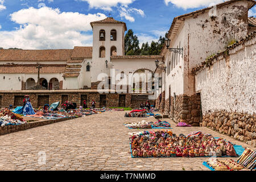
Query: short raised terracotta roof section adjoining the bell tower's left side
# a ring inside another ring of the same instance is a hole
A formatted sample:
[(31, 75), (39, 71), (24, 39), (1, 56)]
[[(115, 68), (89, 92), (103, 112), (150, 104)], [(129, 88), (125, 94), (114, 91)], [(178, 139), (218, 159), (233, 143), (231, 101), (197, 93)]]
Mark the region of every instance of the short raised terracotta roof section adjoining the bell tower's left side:
[(92, 47), (75, 46), (71, 55), (71, 59), (92, 58)]

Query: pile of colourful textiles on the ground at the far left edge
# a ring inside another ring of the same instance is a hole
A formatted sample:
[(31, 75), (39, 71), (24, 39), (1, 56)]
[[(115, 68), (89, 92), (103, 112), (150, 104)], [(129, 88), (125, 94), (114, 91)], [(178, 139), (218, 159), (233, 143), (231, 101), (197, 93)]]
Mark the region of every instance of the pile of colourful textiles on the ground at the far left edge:
[(22, 125), (27, 123), (19, 114), (11, 112), (9, 109), (0, 110), (0, 126)]

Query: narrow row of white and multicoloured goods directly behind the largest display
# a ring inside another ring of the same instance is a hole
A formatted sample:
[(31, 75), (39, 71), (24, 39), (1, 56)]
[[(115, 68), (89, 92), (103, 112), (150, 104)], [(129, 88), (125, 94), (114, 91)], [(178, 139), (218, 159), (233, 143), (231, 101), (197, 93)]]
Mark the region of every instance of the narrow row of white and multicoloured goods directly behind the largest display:
[(171, 129), (170, 123), (160, 120), (156, 122), (146, 122), (143, 120), (138, 123), (125, 123), (125, 127), (129, 127), (129, 129)]

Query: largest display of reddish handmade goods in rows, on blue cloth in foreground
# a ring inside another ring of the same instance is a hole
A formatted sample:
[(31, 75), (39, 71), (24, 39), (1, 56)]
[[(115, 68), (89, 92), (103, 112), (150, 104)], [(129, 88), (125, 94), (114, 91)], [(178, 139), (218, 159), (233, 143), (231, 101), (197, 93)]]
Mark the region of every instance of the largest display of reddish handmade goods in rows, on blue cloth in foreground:
[(132, 158), (238, 156), (232, 143), (203, 134), (177, 136), (171, 130), (143, 131), (130, 134)]

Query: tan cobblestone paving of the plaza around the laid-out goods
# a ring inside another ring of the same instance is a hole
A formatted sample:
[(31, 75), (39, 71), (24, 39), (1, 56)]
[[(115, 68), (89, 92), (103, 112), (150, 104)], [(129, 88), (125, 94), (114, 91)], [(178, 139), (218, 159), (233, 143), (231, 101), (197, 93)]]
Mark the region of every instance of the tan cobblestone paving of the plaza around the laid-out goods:
[[(131, 158), (128, 133), (143, 130), (127, 129), (123, 123), (155, 119), (124, 114), (109, 111), (2, 135), (0, 170), (209, 170), (202, 165), (207, 158)], [(176, 134), (200, 130), (250, 147), (207, 127), (176, 127), (164, 120)]]

